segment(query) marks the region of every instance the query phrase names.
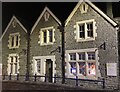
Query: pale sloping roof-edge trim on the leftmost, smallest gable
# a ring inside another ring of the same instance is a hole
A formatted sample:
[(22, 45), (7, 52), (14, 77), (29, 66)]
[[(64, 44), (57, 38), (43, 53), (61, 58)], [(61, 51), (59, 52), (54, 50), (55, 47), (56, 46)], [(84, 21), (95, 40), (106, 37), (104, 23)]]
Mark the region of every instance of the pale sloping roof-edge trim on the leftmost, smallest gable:
[(7, 25), (4, 33), (2, 34), (0, 40), (2, 40), (2, 38), (4, 37), (5, 33), (7, 32), (9, 26), (11, 25), (11, 23), (12, 23), (12, 21), (13, 21), (14, 19), (15, 19), (16, 22), (23, 28), (23, 30), (27, 33), (27, 29), (22, 25), (22, 23), (21, 23), (15, 16), (13, 16), (13, 17), (11, 18), (10, 22), (8, 23), (8, 25)]

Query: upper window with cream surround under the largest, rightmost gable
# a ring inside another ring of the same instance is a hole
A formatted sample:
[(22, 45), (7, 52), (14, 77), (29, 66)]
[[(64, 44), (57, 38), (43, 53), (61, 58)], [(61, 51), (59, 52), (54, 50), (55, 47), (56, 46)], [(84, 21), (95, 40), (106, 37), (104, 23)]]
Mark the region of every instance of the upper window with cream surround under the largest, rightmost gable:
[(95, 29), (94, 19), (77, 22), (77, 42), (95, 40)]

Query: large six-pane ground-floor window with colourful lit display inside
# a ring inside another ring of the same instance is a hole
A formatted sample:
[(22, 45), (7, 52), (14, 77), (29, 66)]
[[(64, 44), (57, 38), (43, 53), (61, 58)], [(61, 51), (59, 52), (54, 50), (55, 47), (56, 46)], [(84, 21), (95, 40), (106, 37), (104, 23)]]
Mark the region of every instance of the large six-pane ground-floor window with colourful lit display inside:
[(67, 75), (74, 77), (78, 75), (80, 78), (89, 78), (96, 76), (97, 50), (81, 49), (67, 51), (66, 70)]

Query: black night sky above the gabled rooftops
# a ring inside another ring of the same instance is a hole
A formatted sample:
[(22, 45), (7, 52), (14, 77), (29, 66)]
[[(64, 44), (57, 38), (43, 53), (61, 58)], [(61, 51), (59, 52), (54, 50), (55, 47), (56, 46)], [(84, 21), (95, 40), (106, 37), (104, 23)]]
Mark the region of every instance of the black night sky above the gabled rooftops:
[[(8, 25), (13, 15), (24, 19), (31, 28), (36, 22), (37, 18), (43, 11), (44, 7), (47, 6), (60, 21), (64, 22), (71, 11), (76, 6), (77, 2), (4, 2), (2, 3), (2, 25), (3, 30)], [(105, 12), (106, 3), (94, 3), (102, 11)], [(114, 17), (120, 17), (120, 2), (113, 3)], [(22, 21), (21, 21), (22, 22)]]

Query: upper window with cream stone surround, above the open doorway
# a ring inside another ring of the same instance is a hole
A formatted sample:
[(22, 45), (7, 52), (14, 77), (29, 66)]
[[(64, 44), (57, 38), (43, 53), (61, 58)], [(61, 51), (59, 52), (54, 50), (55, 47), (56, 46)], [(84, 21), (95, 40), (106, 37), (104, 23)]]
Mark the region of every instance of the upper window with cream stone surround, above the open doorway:
[(48, 28), (42, 28), (40, 31), (40, 43), (41, 45), (51, 45), (54, 43), (54, 31), (55, 29), (53, 27)]

